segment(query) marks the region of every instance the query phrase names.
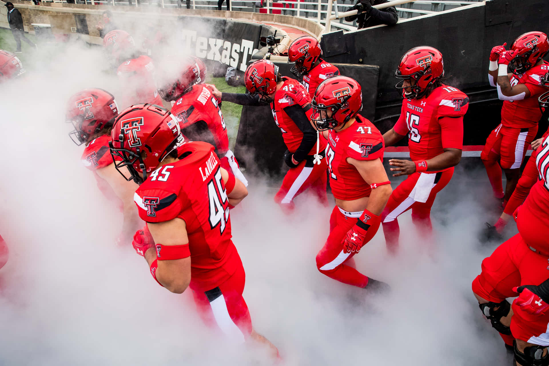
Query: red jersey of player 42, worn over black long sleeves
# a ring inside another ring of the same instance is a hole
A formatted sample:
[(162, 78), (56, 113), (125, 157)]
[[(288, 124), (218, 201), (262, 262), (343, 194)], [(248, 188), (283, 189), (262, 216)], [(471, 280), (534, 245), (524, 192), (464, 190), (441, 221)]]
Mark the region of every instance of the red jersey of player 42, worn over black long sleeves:
[[(290, 153), (295, 153), (295, 150), (299, 148), (299, 144), (301, 144), (301, 140), (303, 139), (303, 132), (284, 112), (284, 108), (299, 104), (302, 107), (306, 107), (305, 113), (311, 119), (313, 113), (313, 109), (310, 108), (311, 97), (309, 97), (309, 93), (307, 93), (305, 87), (297, 80), (285, 76), (282, 77), (282, 80), (284, 84), (275, 93), (275, 101), (271, 103), (271, 111), (276, 125), (282, 132), (284, 144), (286, 144)], [(326, 140), (321, 138), (320, 150), (324, 150), (324, 148), (326, 148)], [(309, 155), (312, 154), (316, 154), (316, 145), (309, 152)]]

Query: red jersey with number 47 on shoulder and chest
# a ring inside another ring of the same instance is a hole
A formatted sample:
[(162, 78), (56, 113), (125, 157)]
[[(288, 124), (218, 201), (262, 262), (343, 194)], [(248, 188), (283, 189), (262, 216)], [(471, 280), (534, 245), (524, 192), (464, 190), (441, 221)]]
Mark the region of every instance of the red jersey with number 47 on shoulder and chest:
[(385, 145), (382, 134), (364, 117), (357, 115), (356, 122), (341, 132), (328, 131), (326, 162), (330, 173), (330, 187), (339, 200), (356, 200), (369, 197), (370, 184), (365, 182), (348, 157), (356, 160), (383, 160)]

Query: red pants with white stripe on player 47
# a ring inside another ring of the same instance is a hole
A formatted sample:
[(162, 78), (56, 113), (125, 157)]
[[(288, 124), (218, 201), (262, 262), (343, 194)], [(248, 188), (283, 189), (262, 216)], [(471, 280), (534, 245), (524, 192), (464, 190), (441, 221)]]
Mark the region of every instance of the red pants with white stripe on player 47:
[[(356, 252), (344, 253), (343, 241), (347, 232), (356, 224), (362, 212), (356, 212), (356, 217), (348, 217), (335, 206), (330, 216), (330, 234), (326, 244), (316, 255), (316, 267), (322, 274), (348, 285), (364, 288), (368, 284), (368, 277), (355, 269), (355, 261), (352, 257)], [(368, 229), (365, 243), (368, 243), (379, 228), (379, 224)]]

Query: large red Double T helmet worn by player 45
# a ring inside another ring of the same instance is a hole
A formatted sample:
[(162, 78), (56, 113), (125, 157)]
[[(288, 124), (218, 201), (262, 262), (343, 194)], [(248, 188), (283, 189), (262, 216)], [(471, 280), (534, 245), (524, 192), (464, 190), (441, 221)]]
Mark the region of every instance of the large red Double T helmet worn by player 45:
[[(141, 184), (147, 173), (182, 142), (179, 122), (169, 110), (154, 104), (134, 104), (114, 122), (109, 145), (116, 170), (127, 181)], [(130, 177), (120, 171), (122, 167), (128, 168)]]

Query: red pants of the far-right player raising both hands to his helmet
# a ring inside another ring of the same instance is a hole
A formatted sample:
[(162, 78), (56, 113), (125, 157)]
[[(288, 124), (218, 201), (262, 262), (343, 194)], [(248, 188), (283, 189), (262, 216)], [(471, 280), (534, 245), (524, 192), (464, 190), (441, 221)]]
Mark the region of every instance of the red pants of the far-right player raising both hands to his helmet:
[(500, 123), (486, 139), (480, 159), (500, 160), (503, 169), (520, 168), (528, 145), (534, 140), (536, 133), (537, 125), (530, 128), (512, 128)]

